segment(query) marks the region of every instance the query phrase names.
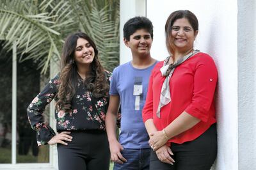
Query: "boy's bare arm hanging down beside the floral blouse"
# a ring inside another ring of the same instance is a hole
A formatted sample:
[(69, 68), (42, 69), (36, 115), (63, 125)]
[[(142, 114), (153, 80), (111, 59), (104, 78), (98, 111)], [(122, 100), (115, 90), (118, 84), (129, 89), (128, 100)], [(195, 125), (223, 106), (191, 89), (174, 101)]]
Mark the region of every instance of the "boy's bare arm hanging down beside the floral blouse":
[(124, 164), (124, 162), (127, 162), (127, 160), (121, 154), (121, 150), (124, 150), (124, 148), (116, 139), (116, 115), (119, 105), (120, 97), (118, 95), (110, 95), (105, 122), (108, 134), (109, 150), (111, 152), (111, 160), (118, 164)]

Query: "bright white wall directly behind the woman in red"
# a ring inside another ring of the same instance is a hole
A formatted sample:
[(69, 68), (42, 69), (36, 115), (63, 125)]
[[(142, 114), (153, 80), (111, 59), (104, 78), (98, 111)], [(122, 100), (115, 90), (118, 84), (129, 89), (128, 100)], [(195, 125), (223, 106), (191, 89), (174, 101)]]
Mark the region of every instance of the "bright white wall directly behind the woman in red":
[[(122, 17), (124, 16), (122, 16), (122, 10), (129, 13), (131, 8), (121, 8), (120, 27), (123, 26)], [(214, 169), (236, 170), (239, 164), (237, 1), (147, 0), (147, 17), (154, 25), (151, 56), (158, 60), (163, 60), (168, 56), (164, 44), (164, 24), (168, 15), (175, 10), (191, 10), (191, 12), (195, 13), (199, 20), (199, 34), (196, 38), (195, 49), (200, 49), (202, 52), (210, 54), (218, 67), (218, 158)], [(131, 17), (134, 16), (130, 15), (129, 18)], [(124, 56), (126, 57), (129, 53), (120, 48), (120, 54), (120, 61), (124, 61)]]

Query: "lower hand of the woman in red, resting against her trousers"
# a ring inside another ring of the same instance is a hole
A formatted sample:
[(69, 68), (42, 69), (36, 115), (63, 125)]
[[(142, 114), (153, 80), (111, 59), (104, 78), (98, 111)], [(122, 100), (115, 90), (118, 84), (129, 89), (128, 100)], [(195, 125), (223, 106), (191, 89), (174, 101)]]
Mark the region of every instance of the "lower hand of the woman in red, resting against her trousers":
[(164, 146), (161, 146), (158, 150), (156, 150), (157, 158), (161, 162), (164, 162), (166, 164), (171, 164), (175, 162), (173, 158), (170, 155), (173, 155), (172, 150), (164, 144)]

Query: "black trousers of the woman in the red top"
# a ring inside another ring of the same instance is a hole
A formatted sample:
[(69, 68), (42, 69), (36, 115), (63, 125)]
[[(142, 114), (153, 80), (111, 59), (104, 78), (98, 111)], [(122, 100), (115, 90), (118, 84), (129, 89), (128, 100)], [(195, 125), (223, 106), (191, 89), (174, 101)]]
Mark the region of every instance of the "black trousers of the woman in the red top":
[(183, 144), (171, 144), (173, 166), (161, 162), (156, 152), (150, 153), (150, 170), (209, 170), (217, 155), (216, 123), (204, 134)]

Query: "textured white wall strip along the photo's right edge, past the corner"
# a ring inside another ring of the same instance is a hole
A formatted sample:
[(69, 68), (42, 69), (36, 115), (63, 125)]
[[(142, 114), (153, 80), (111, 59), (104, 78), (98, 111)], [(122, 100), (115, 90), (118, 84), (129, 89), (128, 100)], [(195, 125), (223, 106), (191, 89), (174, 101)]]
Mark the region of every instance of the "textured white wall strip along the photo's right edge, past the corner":
[(255, 0), (238, 0), (239, 169), (256, 168), (255, 9)]

